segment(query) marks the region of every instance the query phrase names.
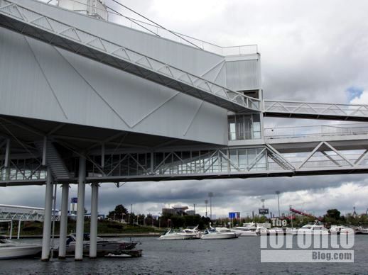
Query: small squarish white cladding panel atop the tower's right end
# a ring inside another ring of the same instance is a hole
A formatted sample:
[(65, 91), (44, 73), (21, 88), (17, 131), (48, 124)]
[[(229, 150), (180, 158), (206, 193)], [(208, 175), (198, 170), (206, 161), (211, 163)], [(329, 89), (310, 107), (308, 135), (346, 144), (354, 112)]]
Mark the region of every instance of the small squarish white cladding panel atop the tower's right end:
[(226, 62), (227, 87), (234, 91), (260, 89), (259, 60)]

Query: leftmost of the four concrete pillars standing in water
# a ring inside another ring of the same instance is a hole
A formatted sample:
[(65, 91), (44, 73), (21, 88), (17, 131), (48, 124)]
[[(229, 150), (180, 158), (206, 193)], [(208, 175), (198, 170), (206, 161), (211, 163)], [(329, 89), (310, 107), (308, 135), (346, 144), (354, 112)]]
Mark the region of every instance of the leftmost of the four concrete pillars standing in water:
[(48, 261), (50, 258), (50, 237), (51, 237), (51, 216), (53, 211), (53, 185), (52, 174), (48, 168), (46, 178), (46, 195), (45, 195), (45, 218), (43, 220), (43, 237), (42, 237), (42, 257), (43, 261)]

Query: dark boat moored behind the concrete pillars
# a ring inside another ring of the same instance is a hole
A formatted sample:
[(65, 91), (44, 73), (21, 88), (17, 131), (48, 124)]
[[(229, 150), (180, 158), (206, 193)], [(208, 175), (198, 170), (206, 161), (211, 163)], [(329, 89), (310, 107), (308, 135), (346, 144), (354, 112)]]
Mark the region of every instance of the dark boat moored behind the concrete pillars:
[[(69, 235), (67, 238), (67, 254), (75, 252), (75, 234)], [(123, 252), (134, 251), (138, 242), (124, 240), (104, 240), (97, 237), (97, 255), (121, 254)], [(83, 254), (90, 252), (90, 235), (83, 235)]]

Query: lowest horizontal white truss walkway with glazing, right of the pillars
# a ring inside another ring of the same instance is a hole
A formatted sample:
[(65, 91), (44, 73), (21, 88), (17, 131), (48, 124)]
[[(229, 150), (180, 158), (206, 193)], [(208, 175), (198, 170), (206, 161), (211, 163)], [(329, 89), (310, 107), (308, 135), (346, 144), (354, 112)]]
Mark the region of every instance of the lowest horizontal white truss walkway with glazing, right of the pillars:
[(292, 176), (368, 171), (368, 150), (336, 150), (319, 142), (313, 150), (281, 154), (271, 145), (213, 150), (117, 153), (87, 157), (87, 181), (210, 179), (216, 177)]

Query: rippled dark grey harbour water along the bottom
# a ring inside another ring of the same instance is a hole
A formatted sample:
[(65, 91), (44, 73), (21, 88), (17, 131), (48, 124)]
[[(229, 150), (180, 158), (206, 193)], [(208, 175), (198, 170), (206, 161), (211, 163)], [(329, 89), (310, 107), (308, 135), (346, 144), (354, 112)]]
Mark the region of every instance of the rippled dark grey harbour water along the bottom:
[[(232, 240), (139, 239), (144, 256), (134, 259), (74, 259), (0, 262), (0, 274), (368, 274), (368, 235), (355, 236), (355, 263), (263, 263), (259, 237)], [(26, 240), (40, 242), (40, 240)]]

